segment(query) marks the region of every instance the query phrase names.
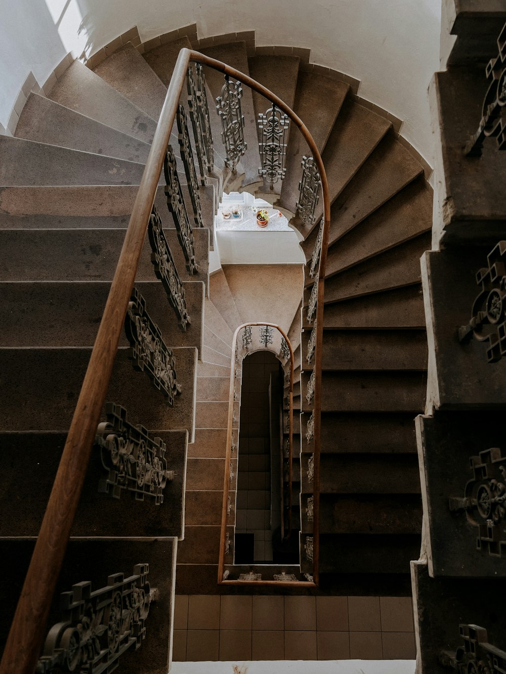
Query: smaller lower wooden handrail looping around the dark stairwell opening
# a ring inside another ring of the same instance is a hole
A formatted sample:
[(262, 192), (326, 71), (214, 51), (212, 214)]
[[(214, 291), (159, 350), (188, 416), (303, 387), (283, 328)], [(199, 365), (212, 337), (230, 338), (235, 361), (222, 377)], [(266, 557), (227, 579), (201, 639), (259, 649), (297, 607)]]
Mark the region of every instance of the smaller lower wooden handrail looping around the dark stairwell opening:
[[(288, 405), (288, 415), (290, 420), (290, 433), (289, 433), (289, 445), (288, 445), (288, 488), (289, 488), (289, 528), (291, 528), (291, 480), (292, 480), (292, 469), (291, 463), (293, 460), (293, 367), (294, 367), (294, 357), (293, 357), (293, 348), (291, 342), (285, 333), (285, 331), (280, 328), (275, 323), (269, 323), (266, 321), (260, 322), (248, 322), (241, 324), (236, 328), (233, 339), (232, 339), (232, 355), (230, 360), (230, 386), (229, 386), (229, 409), (227, 417), (227, 450), (225, 454), (225, 476), (223, 477), (223, 505), (221, 508), (221, 532), (220, 532), (220, 551), (219, 551), (219, 560), (218, 560), (218, 584), (241, 584), (241, 585), (259, 585), (259, 584), (275, 584), (275, 585), (289, 585), (288, 582), (283, 582), (281, 580), (265, 580), (265, 581), (248, 581), (248, 580), (223, 580), (223, 571), (225, 569), (225, 537), (227, 535), (227, 508), (228, 508), (228, 496), (229, 496), (229, 484), (230, 484), (230, 461), (232, 454), (232, 438), (233, 438), (233, 406), (235, 404), (234, 400), (234, 391), (235, 391), (235, 357), (237, 353), (237, 335), (243, 328), (247, 326), (269, 326), (270, 328), (275, 328), (281, 336), (285, 339), (285, 342), (288, 345), (290, 352), (290, 383), (289, 383), (289, 405)], [(258, 350), (258, 349), (254, 349)], [(253, 350), (252, 350), (253, 351)], [(238, 446), (238, 443), (237, 443)], [(283, 513), (281, 513), (283, 516)], [(293, 582), (291, 583), (293, 585)], [(312, 583), (314, 585), (314, 583)]]

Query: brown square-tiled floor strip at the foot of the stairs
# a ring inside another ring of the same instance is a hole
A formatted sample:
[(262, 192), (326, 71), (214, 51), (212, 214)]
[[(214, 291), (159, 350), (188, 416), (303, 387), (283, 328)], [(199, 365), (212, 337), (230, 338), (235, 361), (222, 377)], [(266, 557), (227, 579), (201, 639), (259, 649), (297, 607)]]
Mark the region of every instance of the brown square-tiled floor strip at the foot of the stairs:
[(177, 661), (412, 660), (410, 597), (179, 594)]

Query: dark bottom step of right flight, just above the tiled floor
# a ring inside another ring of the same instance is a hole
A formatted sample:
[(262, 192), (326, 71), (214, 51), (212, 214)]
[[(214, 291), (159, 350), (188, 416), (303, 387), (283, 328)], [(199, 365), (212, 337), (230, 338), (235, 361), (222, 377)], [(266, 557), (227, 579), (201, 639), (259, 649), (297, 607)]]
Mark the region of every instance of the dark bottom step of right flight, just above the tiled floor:
[[(322, 534), (320, 574), (405, 574), (420, 555), (416, 534)], [(397, 581), (396, 586), (399, 586)]]

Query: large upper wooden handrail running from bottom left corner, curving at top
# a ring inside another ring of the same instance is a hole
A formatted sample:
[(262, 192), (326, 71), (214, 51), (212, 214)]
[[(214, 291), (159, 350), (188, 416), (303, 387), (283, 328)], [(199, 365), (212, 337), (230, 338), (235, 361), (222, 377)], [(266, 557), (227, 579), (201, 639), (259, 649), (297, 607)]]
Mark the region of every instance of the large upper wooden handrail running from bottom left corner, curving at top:
[(53, 483), (46, 512), (34, 547), (30, 566), (16, 613), (0, 663), (0, 674), (33, 674), (40, 647), (45, 635), (49, 607), (57, 578), (63, 563), (63, 555), (70, 529), (78, 507), (84, 477), (88, 468), (91, 448), (101, 410), (105, 402), (109, 378), (123, 321), (134, 285), (140, 253), (146, 236), (148, 220), (163, 168), (163, 160), (175, 120), (179, 98), (183, 90), (186, 71), (190, 61), (202, 63), (219, 70), (253, 90), (269, 98), (288, 115), (300, 129), (318, 166), (324, 204), (324, 227), (318, 266), (318, 305), (316, 309), (316, 378), (314, 386), (314, 582), (318, 582), (318, 535), (319, 535), (319, 480), (320, 480), (320, 411), (321, 411), (321, 365), (322, 326), (325, 262), (330, 229), (330, 200), (327, 175), (318, 148), (304, 122), (269, 89), (235, 68), (211, 59), (190, 49), (181, 49), (159, 123), (154, 133), (140, 188), (134, 202), (132, 215), (121, 248), (116, 271), (109, 290), (103, 317), (92, 349), (67, 441), (61, 455), (59, 468)]

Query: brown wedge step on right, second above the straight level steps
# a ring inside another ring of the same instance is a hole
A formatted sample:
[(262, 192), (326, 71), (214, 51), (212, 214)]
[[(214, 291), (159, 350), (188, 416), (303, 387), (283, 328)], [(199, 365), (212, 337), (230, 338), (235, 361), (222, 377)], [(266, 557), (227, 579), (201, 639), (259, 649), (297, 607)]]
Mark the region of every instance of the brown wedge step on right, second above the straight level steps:
[(325, 303), (420, 283), (420, 257), (430, 245), (428, 232), (327, 278)]

